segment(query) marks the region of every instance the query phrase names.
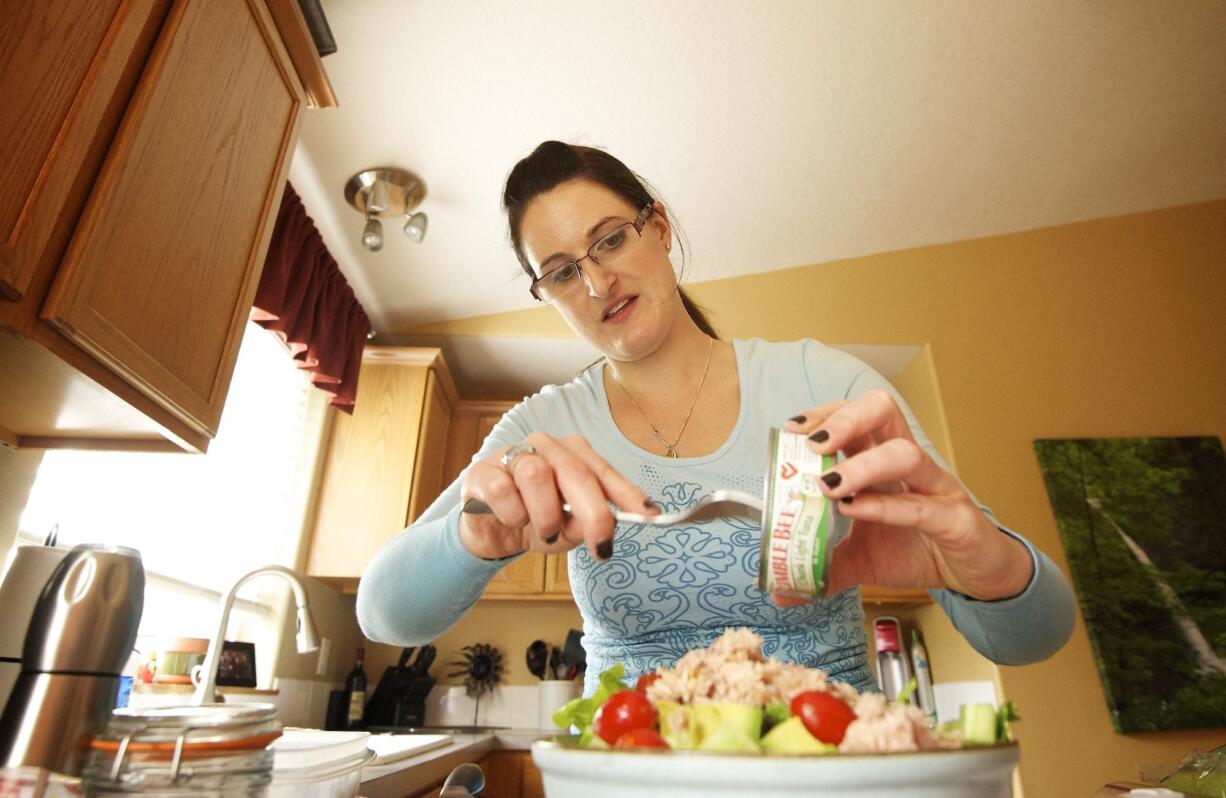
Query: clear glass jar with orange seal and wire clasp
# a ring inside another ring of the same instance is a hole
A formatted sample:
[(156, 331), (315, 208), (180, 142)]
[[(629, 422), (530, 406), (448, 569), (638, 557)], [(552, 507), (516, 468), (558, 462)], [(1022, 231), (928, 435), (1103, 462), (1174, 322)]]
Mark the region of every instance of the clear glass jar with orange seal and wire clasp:
[(265, 796), (276, 715), (271, 704), (116, 710), (89, 743), (85, 794)]

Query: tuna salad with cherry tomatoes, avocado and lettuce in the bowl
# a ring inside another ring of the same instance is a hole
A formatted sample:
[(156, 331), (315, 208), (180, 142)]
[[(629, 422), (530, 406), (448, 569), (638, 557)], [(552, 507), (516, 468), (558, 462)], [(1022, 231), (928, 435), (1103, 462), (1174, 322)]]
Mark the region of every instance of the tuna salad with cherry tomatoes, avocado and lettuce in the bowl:
[(587, 748), (884, 754), (1005, 743), (1019, 720), (1011, 704), (999, 711), (966, 705), (958, 721), (933, 729), (911, 706), (910, 690), (886, 702), (820, 668), (764, 657), (761, 645), (749, 629), (728, 629), (634, 688), (617, 664), (600, 675), (593, 695), (555, 711), (554, 723), (577, 728)]

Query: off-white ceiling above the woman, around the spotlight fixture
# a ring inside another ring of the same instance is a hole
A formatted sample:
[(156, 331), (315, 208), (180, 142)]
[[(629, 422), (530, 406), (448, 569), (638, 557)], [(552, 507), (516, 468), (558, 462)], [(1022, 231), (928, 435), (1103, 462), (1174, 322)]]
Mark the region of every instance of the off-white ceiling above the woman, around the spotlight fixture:
[[(324, 10), (341, 107), (304, 115), (291, 181), (381, 336), (535, 304), (499, 200), (546, 139), (647, 178), (689, 282), (1226, 196), (1219, 0)], [(362, 249), (342, 190), (378, 165), (425, 180), (423, 244)]]

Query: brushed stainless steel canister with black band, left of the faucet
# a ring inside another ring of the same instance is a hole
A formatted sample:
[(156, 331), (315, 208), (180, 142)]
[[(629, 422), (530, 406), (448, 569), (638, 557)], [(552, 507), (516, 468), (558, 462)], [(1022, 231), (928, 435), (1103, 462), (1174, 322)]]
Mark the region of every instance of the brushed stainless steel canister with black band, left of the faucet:
[(21, 673), (0, 716), (0, 767), (80, 775), (89, 739), (115, 706), (143, 601), (135, 549), (81, 544), (55, 566), (34, 603)]

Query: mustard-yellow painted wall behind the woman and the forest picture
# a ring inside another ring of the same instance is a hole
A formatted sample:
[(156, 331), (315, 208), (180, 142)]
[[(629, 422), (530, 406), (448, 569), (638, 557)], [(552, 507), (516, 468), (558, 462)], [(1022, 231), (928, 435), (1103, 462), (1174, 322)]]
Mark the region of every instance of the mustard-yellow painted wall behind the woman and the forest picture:
[[(960, 476), (1065, 569), (1036, 438), (1226, 435), (1226, 200), (690, 291), (725, 336), (929, 344)], [(569, 335), (544, 308), (428, 330)], [(1080, 618), (1063, 651), (999, 680), (1025, 716), (1029, 796), (1090, 796), (1224, 742), (1116, 734)]]

